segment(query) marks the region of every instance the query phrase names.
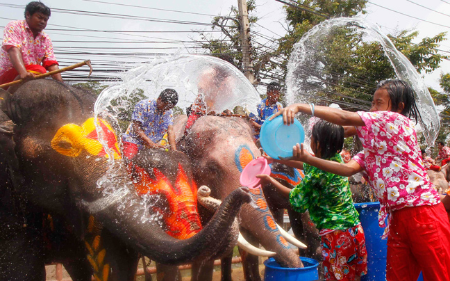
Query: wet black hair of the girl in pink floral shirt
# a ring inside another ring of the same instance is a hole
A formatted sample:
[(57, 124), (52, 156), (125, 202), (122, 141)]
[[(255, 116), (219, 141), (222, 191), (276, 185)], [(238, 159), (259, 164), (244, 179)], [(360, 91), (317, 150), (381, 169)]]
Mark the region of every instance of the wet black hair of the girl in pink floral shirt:
[(415, 102), (414, 91), (412, 88), (402, 80), (383, 80), (376, 85), (376, 89), (385, 89), (390, 97), (391, 110), (397, 111), (399, 109), (399, 104), (403, 102), (405, 105), (401, 111), (401, 115), (406, 116), (410, 119), (422, 120), (422, 116), (417, 109), (417, 104)]

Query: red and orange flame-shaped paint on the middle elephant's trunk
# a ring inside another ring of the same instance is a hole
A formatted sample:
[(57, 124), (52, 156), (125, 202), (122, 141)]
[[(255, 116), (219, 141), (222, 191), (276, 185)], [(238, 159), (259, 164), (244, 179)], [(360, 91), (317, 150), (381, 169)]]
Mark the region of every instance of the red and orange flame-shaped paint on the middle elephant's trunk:
[(169, 210), (157, 209), (163, 214), (166, 232), (176, 239), (188, 239), (201, 230), (200, 217), (197, 210), (197, 185), (190, 180), (183, 167), (178, 163), (178, 172), (174, 185), (157, 168), (153, 168), (151, 177), (147, 170), (135, 166), (140, 182), (135, 183), (139, 195), (163, 195), (169, 204)]

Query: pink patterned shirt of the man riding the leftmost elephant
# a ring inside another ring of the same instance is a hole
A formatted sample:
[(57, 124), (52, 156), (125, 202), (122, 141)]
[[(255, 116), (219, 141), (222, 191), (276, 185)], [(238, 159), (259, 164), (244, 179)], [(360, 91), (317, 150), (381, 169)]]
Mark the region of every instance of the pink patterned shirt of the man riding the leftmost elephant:
[[(53, 44), (44, 32), (36, 38), (28, 27), (26, 20), (16, 20), (6, 24), (3, 31), (3, 45), (0, 50), (0, 76), (13, 66), (8, 56), (8, 49), (17, 47), (22, 52), (24, 65), (42, 65), (49, 67), (58, 64), (53, 54)], [(46, 63), (47, 62), (47, 63)]]

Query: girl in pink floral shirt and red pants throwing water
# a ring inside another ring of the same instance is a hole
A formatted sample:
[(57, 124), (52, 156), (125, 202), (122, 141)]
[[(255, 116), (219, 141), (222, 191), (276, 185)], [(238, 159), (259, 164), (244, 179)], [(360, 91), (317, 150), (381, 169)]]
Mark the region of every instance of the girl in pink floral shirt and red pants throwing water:
[(370, 112), (292, 104), (276, 115), (290, 125), (298, 112), (353, 126), (347, 134), (358, 134), (363, 143), (364, 151), (349, 163), (313, 157), (303, 144), (294, 147), (293, 158), (347, 177), (364, 172), (381, 204), (378, 223), (386, 226), (387, 280), (417, 280), (420, 271), (425, 280), (450, 280), (450, 223), (409, 119), (420, 118), (410, 86), (400, 80), (378, 83)]

